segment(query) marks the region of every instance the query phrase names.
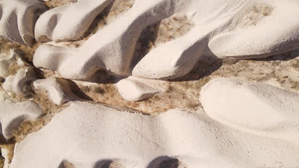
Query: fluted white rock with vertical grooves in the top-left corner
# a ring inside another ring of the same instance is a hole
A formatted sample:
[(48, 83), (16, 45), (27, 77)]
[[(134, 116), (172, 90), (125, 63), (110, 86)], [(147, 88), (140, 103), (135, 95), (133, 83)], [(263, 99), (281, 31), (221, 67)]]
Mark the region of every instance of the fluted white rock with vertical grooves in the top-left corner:
[(0, 37), (31, 45), (39, 13), (46, 11), (38, 0), (2, 0), (0, 2)]

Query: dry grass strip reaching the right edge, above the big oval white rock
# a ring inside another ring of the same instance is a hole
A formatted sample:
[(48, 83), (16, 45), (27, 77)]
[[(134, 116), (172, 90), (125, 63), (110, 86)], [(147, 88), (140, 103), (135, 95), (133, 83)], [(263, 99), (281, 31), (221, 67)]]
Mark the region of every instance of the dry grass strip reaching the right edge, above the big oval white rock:
[[(234, 64), (223, 65), (210, 77), (232, 77), (249, 81), (261, 81), (293, 92), (299, 92), (299, 69), (292, 67), (298, 58), (284, 56), (284, 60), (275, 60), (277, 56), (265, 59), (238, 60)], [(261, 60), (261, 61), (260, 61)]]

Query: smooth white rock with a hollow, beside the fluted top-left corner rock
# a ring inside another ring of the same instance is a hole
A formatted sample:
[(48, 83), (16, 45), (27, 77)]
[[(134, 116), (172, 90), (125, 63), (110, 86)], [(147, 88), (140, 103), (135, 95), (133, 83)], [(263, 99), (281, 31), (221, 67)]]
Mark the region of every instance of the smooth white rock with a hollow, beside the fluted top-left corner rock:
[(111, 2), (113, 0), (81, 0), (51, 9), (36, 22), (35, 38), (40, 42), (77, 40)]

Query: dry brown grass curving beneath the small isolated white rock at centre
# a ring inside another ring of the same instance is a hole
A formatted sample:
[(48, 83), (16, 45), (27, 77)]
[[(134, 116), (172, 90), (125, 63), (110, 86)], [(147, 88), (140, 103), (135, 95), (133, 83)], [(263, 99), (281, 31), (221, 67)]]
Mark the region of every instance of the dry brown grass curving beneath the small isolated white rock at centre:
[(156, 114), (173, 108), (194, 111), (201, 107), (198, 101), (199, 90), (209, 79), (209, 77), (203, 77), (191, 81), (168, 81), (165, 92), (136, 102), (124, 100), (113, 84), (79, 85), (79, 88), (94, 102), (128, 107), (144, 114)]

